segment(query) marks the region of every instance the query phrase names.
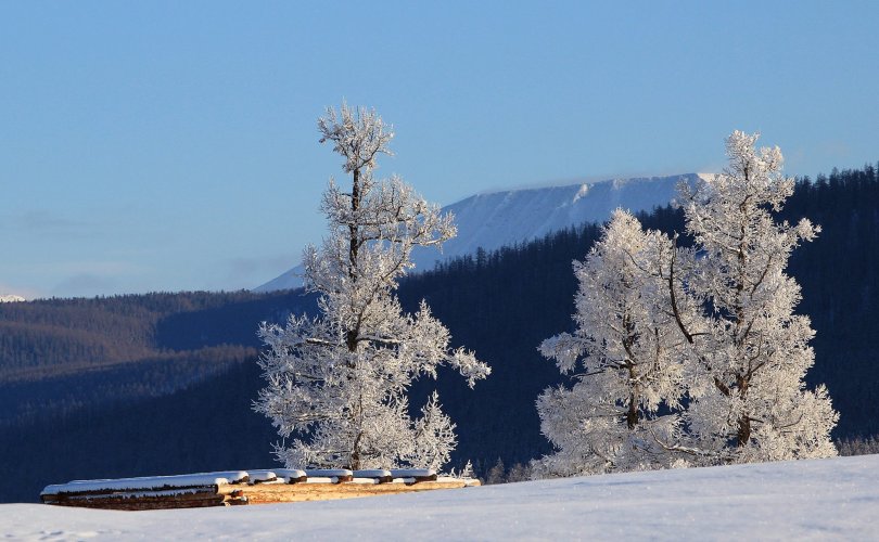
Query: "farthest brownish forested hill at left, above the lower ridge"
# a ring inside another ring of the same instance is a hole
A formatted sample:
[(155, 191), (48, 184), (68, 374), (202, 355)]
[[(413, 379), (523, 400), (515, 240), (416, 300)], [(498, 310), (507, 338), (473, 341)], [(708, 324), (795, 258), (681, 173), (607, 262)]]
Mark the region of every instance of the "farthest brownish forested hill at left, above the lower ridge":
[(235, 317), (278, 318), (296, 297), (250, 292), (148, 294), (0, 304), (0, 382), (81, 364), (132, 361), (156, 351), (220, 344), (258, 346)]

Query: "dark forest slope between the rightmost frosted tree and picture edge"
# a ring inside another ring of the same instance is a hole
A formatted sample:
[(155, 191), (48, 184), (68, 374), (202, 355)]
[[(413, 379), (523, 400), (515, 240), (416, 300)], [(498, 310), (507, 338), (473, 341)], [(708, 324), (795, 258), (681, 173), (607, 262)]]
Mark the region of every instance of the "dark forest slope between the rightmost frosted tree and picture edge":
[(879, 435), (879, 171), (877, 166), (800, 180), (780, 212), (821, 227), (794, 250), (790, 273), (802, 286), (798, 312), (812, 319), (815, 366), (840, 421), (837, 439)]

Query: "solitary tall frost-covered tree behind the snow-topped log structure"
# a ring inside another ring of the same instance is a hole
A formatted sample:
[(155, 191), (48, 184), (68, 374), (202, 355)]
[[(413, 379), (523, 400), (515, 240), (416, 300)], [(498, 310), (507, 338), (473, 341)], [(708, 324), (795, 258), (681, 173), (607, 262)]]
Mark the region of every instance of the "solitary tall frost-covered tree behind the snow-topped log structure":
[(343, 156), (351, 191), (330, 180), (321, 206), (329, 235), (305, 250), (306, 289), (319, 294), (320, 315), (259, 328), (268, 386), (255, 410), (292, 440), (276, 444), (291, 467), (438, 468), (456, 446), (455, 424), (436, 393), (410, 417), (411, 382), (449, 364), (472, 387), (491, 371), (472, 352), (449, 348), (448, 330), (426, 304), (406, 314), (394, 292), (412, 268), (413, 247), (438, 247), (455, 235), (453, 217), (398, 177), (373, 178), (393, 138), (374, 111), (343, 104), (318, 128), (321, 143)]

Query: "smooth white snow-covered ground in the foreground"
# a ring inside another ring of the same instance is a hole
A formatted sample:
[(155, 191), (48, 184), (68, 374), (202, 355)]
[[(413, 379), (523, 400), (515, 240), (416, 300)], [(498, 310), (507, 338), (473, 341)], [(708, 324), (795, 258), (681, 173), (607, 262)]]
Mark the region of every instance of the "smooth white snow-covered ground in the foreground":
[(879, 455), (191, 511), (0, 505), (8, 540), (877, 540)]

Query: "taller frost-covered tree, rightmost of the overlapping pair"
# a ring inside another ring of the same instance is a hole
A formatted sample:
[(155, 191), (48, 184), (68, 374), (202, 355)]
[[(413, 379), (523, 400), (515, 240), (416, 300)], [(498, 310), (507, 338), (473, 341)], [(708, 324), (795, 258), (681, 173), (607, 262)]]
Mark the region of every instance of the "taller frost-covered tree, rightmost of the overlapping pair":
[(757, 138), (735, 131), (724, 172), (683, 186), (687, 232), (701, 254), (690, 286), (713, 321), (710, 335), (693, 340), (701, 377), (687, 418), (701, 446), (725, 461), (835, 455), (838, 414), (824, 386), (805, 389), (815, 332), (794, 313), (800, 286), (785, 273), (793, 248), (820, 230), (773, 218), (794, 181), (781, 172), (780, 150), (755, 149)]

